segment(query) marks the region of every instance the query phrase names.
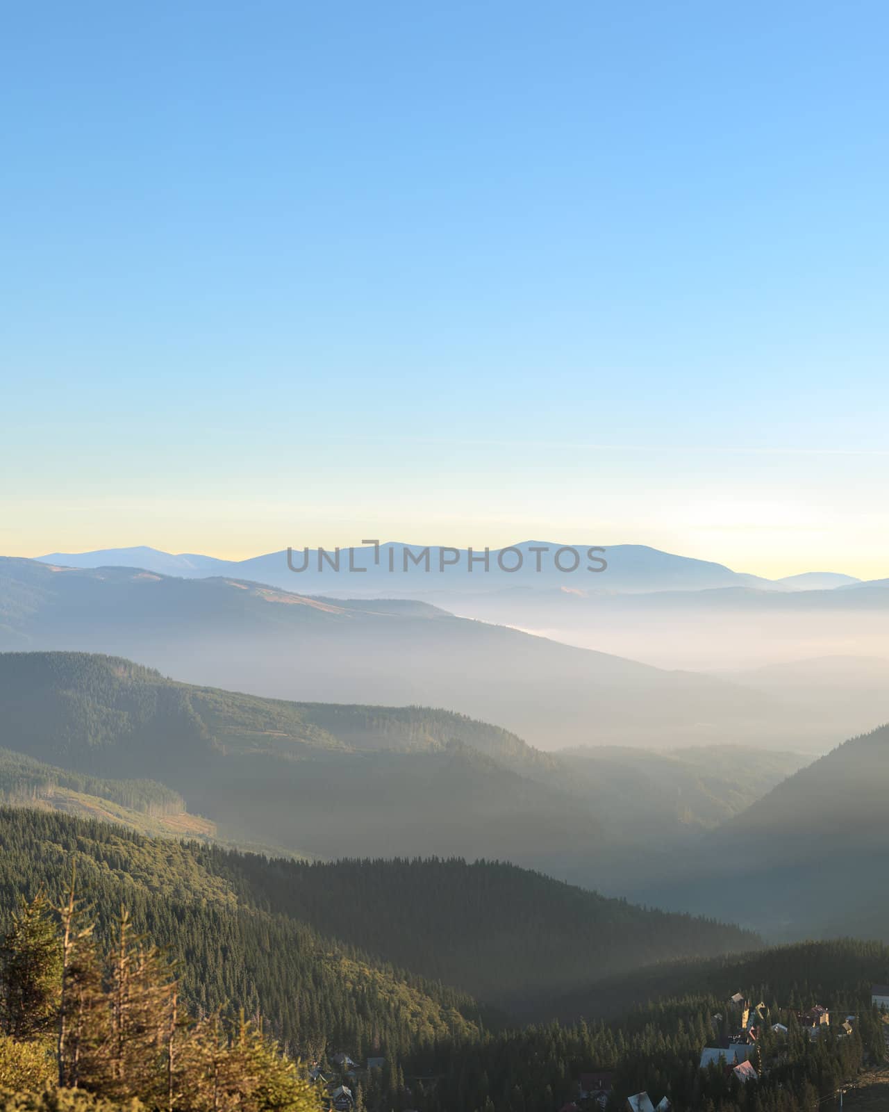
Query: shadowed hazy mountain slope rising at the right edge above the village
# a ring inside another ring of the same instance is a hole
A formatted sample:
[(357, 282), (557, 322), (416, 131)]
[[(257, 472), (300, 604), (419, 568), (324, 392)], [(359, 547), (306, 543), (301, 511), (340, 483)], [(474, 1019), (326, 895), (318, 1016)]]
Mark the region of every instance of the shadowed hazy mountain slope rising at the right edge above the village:
[(733, 916), (770, 937), (889, 941), (889, 726), (840, 745), (710, 832), (637, 897)]

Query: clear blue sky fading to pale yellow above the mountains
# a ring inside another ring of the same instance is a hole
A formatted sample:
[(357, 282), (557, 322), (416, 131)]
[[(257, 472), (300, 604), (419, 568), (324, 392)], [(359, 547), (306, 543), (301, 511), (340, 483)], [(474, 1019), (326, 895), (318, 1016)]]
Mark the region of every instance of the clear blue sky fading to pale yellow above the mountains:
[(882, 0), (0, 28), (0, 552), (889, 575)]

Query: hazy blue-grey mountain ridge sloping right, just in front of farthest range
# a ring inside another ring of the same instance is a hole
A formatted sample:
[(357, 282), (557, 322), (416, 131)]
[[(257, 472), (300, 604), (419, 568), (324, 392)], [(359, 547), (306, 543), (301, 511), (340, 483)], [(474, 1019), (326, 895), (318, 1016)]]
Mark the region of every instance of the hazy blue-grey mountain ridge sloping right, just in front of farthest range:
[(0, 651), (128, 656), (190, 682), (319, 702), (446, 706), (545, 748), (826, 747), (805, 707), (407, 599), (333, 600), (228, 578), (0, 560)]

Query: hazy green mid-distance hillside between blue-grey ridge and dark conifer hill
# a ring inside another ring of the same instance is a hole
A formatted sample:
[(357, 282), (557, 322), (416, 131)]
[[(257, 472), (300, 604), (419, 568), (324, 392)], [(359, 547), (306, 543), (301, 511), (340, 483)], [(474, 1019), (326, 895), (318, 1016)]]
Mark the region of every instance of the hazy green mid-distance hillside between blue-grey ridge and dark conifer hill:
[(239, 845), (483, 856), (619, 894), (628, 854), (687, 842), (799, 764), (763, 754), (755, 775), (720, 752), (543, 754), (446, 711), (263, 699), (82, 653), (0, 654), (0, 716), (7, 747), (160, 780)]

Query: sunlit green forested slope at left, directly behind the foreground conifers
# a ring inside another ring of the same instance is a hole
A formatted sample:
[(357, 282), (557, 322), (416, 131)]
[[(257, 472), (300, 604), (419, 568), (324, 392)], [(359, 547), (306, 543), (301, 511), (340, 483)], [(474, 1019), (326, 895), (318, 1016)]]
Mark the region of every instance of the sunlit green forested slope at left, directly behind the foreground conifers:
[(368, 959), (287, 915), (252, 905), (194, 843), (152, 840), (93, 821), (0, 807), (0, 919), (41, 888), (58, 904), (72, 865), (100, 936), (126, 905), (168, 947), (196, 1013), (261, 1013), (294, 1053), (348, 1046), (402, 1054), (478, 1032), (465, 993)]

